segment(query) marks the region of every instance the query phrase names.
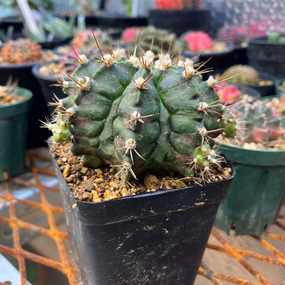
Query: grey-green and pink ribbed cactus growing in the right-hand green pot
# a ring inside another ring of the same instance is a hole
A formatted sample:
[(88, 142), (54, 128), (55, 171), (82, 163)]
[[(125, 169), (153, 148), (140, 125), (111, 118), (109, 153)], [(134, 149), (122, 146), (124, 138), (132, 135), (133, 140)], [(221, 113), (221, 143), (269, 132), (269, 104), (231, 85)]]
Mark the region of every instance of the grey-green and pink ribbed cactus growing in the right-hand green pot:
[(281, 118), (273, 108), (262, 101), (241, 103), (235, 107), (236, 116), (242, 122), (241, 141), (243, 143), (263, 143), (280, 137)]

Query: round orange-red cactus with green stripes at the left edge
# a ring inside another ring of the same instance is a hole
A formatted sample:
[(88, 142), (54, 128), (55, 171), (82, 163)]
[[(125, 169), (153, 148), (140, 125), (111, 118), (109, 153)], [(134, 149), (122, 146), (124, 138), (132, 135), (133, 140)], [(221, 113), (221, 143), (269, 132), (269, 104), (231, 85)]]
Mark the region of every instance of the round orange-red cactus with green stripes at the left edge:
[(36, 62), (41, 59), (41, 46), (29, 38), (10, 40), (1, 48), (1, 61), (7, 63)]

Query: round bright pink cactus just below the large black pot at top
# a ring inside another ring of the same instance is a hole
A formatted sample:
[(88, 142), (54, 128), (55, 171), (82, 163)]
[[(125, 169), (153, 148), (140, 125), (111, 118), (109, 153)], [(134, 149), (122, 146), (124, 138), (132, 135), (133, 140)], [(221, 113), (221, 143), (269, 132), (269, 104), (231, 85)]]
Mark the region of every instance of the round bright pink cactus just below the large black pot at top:
[(213, 47), (213, 41), (209, 34), (204, 32), (189, 32), (185, 36), (189, 50), (201, 52), (204, 48), (210, 50)]

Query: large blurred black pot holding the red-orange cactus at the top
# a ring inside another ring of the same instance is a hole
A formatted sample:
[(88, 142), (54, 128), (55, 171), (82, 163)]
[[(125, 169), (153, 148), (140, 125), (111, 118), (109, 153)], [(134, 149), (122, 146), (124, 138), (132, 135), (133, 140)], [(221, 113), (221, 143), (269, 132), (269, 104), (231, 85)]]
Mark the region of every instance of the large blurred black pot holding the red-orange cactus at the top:
[(192, 31), (209, 32), (211, 11), (205, 9), (149, 10), (148, 24), (162, 29), (170, 29), (178, 36)]

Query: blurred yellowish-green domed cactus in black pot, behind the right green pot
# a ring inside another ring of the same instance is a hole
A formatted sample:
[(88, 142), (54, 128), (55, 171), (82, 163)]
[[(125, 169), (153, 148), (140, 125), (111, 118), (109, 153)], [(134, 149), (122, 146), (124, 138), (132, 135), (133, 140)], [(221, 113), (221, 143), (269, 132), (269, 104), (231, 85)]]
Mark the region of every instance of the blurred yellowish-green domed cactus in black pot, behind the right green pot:
[[(239, 74), (239, 76), (232, 77), (236, 74)], [(232, 77), (228, 82), (233, 84), (256, 85), (260, 82), (257, 70), (248, 65), (238, 64), (231, 66), (225, 70), (223, 75)]]

